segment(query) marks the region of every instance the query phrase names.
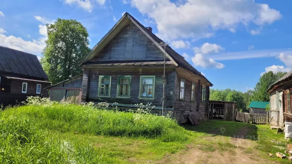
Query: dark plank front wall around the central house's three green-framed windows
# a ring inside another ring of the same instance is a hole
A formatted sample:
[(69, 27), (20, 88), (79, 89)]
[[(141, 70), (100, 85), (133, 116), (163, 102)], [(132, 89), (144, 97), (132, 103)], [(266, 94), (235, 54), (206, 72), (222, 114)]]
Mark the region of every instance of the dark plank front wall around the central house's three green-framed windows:
[[(98, 79), (99, 77), (94, 77), (93, 74), (99, 75), (111, 75), (112, 82), (111, 82), (111, 98), (104, 98), (98, 97)], [(171, 77), (174, 75), (174, 69), (166, 70), (166, 81), (168, 81), (168, 74)], [(131, 99), (123, 99), (123, 98), (116, 98), (117, 95), (117, 76), (119, 75), (132, 75), (132, 82), (131, 82)], [(154, 100), (142, 100), (138, 99), (139, 97), (139, 87), (140, 87), (140, 75), (155, 75), (155, 99)], [(88, 93), (87, 93), (87, 101), (93, 102), (118, 102), (121, 104), (138, 104), (143, 103), (147, 104), (151, 102), (153, 105), (160, 107), (162, 103), (160, 102), (163, 96), (163, 83), (162, 83), (162, 76), (163, 76), (163, 69), (162, 68), (155, 68), (155, 69), (147, 69), (147, 68), (139, 68), (139, 69), (90, 69), (89, 76), (88, 76)], [(174, 83), (172, 80), (168, 81), (166, 84), (165, 90), (167, 95), (170, 95), (171, 89), (174, 88)], [(166, 107), (173, 107), (174, 100), (173, 97), (167, 97), (167, 106)]]

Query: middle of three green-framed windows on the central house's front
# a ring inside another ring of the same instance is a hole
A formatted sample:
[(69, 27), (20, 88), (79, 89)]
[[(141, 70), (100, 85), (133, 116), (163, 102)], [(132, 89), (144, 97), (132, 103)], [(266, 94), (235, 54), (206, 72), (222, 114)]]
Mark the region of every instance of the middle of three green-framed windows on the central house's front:
[(132, 76), (118, 76), (117, 98), (131, 98)]

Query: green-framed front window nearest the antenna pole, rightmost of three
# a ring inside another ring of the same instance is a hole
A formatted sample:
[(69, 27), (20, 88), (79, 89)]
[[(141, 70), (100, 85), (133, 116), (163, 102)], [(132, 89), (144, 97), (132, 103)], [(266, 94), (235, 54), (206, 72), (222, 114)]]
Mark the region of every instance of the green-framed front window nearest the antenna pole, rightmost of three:
[(140, 76), (139, 99), (154, 100), (155, 76)]

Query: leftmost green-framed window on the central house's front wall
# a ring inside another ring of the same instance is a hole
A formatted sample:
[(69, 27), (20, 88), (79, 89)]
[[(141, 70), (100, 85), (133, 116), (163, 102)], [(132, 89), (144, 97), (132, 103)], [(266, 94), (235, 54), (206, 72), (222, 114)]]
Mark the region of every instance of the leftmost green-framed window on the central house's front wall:
[(99, 76), (98, 80), (98, 97), (111, 97), (110, 89), (112, 83), (112, 76)]

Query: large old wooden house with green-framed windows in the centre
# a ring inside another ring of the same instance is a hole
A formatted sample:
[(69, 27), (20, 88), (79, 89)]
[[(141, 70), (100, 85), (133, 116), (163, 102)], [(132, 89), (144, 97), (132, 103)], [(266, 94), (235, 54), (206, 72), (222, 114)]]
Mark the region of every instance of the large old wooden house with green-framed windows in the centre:
[[(84, 69), (82, 102), (118, 102), (120, 107), (152, 103), (162, 109), (164, 46), (130, 14), (114, 27), (81, 60)], [(208, 81), (183, 56), (166, 46), (165, 110), (174, 111), (180, 123), (189, 113), (206, 117), (209, 111)]]

